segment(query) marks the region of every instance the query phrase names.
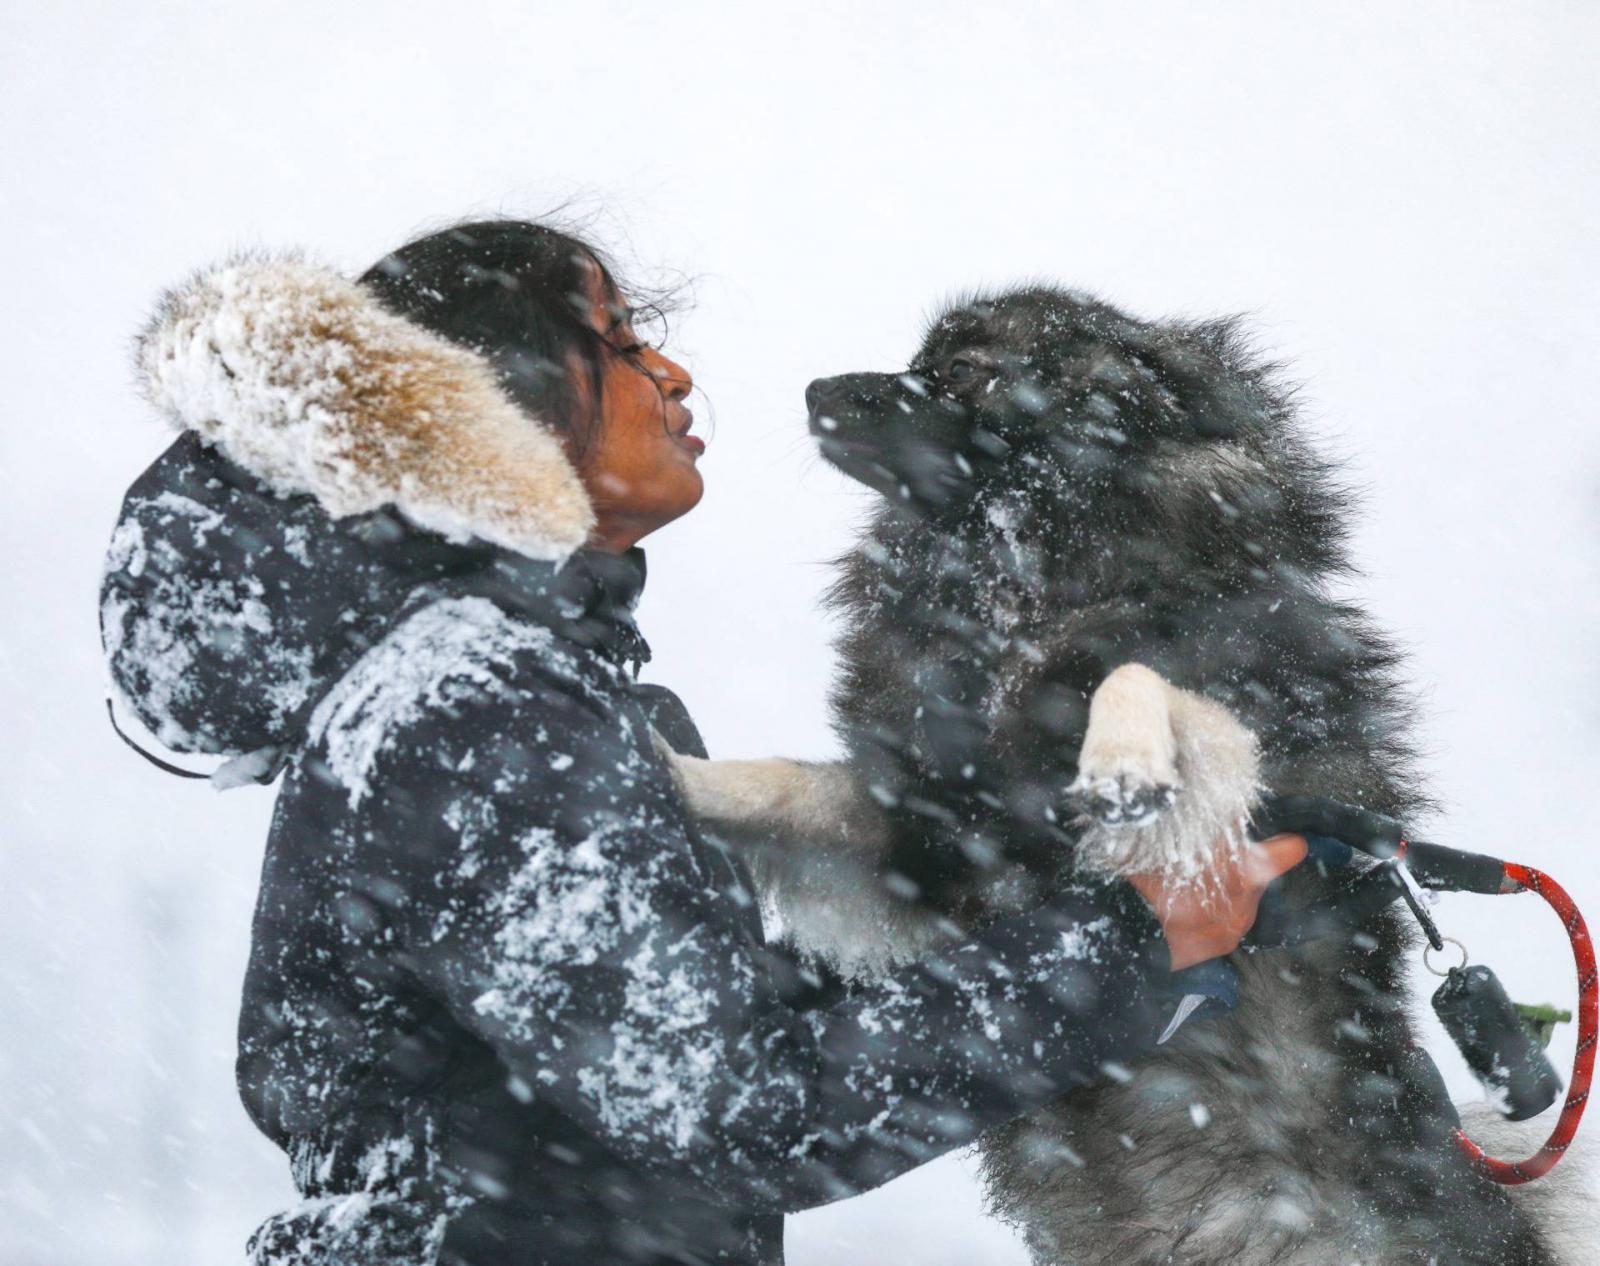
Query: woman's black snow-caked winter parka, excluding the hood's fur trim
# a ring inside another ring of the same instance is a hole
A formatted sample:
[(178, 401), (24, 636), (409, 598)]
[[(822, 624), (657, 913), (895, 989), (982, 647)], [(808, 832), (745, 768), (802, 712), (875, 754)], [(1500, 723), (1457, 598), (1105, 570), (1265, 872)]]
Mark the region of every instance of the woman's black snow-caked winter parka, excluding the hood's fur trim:
[(102, 621), (163, 743), (286, 763), (238, 1085), (304, 1199), (256, 1263), (776, 1263), (784, 1212), (1155, 1040), (1166, 954), (1123, 885), (800, 1005), (653, 744), (701, 751), (629, 671), (642, 555), (453, 543), (400, 496), (334, 517), (213, 439), (130, 491)]

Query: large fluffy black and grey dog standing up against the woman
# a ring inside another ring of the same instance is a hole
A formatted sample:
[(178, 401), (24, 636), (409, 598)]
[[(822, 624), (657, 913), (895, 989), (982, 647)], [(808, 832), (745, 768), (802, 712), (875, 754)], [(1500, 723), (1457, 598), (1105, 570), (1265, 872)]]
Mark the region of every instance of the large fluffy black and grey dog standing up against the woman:
[[(1334, 592), (1354, 499), (1238, 320), (979, 294), (806, 402), (882, 495), (830, 591), (846, 759), (675, 759), (798, 949), (869, 978), (1072, 872), (1205, 883), (1264, 789), (1432, 810), (1402, 658)], [(1416, 1072), (1408, 917), (1230, 956), (1230, 1013), (982, 1140), (992, 1210), (1037, 1263), (1578, 1260)]]

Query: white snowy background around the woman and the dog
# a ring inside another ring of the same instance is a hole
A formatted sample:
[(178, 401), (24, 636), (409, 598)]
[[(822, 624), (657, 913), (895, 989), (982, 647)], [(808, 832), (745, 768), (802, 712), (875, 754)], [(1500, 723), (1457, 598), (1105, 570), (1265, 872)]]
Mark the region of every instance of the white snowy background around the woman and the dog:
[[(709, 490), (651, 541), (643, 624), (723, 755), (832, 751), (818, 595), (864, 503), (811, 456), (806, 381), (902, 363), (974, 283), (1250, 309), (1370, 490), (1435, 837), (1600, 919), (1597, 62), (1589, 0), (5, 5), (0, 1261), (238, 1261), (290, 1197), (232, 1088), (270, 792), (122, 747), (94, 621), (166, 443), (128, 338), (240, 245), (360, 270), (578, 195), (624, 259), (698, 278), (674, 347)], [(1442, 917), (1570, 1004), (1533, 898)], [(971, 1170), (795, 1218), (790, 1261), (1021, 1263)]]

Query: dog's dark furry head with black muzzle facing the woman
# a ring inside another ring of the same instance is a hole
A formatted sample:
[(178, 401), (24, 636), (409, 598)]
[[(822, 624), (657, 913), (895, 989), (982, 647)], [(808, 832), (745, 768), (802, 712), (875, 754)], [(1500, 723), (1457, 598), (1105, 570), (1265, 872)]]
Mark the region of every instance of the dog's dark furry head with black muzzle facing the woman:
[(1014, 483), (1018, 463), (1130, 487), (1162, 456), (1248, 442), (1275, 402), (1234, 351), (1229, 322), (1141, 322), (1029, 286), (952, 307), (906, 371), (818, 379), (806, 405), (834, 466), (939, 514), (997, 475)]

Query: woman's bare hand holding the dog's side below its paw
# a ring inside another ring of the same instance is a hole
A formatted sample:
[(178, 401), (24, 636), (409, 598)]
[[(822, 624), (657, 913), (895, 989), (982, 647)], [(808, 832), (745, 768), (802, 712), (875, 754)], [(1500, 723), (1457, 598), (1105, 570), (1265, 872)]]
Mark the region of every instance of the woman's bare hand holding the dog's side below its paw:
[(1205, 883), (1128, 875), (1166, 933), (1173, 972), (1230, 954), (1256, 922), (1267, 885), (1306, 858), (1304, 835), (1272, 835), (1243, 850), (1218, 847)]

